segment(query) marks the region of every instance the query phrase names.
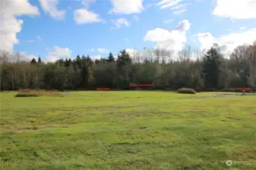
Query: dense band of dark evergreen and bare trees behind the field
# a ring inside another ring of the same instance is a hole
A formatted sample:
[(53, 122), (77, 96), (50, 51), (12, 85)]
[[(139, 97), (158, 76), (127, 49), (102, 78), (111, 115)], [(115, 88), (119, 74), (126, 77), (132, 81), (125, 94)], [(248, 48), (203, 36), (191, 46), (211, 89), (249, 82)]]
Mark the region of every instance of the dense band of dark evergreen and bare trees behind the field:
[(203, 91), (256, 85), (256, 42), (235, 48), (229, 57), (224, 57), (216, 44), (201, 57), (191, 58), (190, 51), (185, 50), (178, 55), (156, 49), (141, 61), (140, 56), (123, 50), (117, 57), (110, 53), (100, 60), (77, 55), (73, 60), (44, 63), (40, 57), (10, 60), (14, 55), (2, 51), (1, 90), (128, 89), (130, 83), (137, 83), (153, 84), (156, 89), (186, 87)]

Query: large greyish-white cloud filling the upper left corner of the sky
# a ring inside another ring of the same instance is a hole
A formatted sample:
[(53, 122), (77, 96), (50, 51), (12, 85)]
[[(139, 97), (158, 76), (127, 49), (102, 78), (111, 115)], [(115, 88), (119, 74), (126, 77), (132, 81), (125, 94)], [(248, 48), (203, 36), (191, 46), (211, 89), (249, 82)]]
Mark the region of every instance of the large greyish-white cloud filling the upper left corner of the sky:
[(27, 0), (1, 0), (0, 12), (0, 51), (8, 51), (12, 54), (14, 45), (19, 42), (16, 35), (21, 32), (21, 26), (24, 22), (17, 17), (39, 15), (40, 12), (36, 6), (30, 5)]

